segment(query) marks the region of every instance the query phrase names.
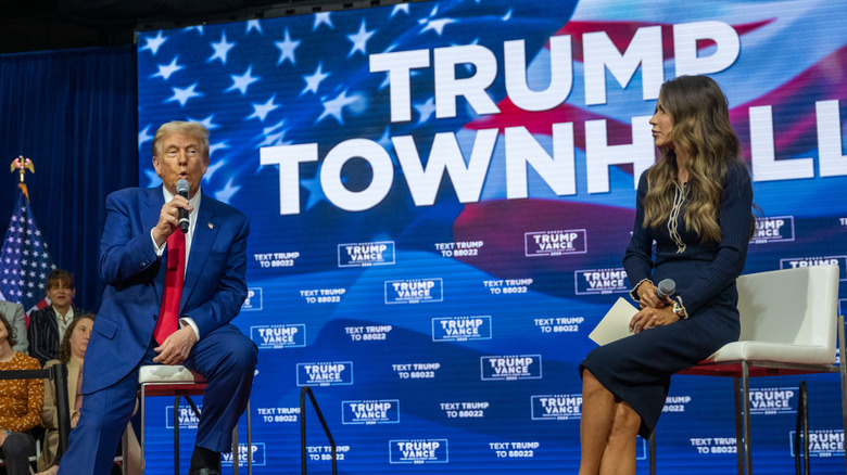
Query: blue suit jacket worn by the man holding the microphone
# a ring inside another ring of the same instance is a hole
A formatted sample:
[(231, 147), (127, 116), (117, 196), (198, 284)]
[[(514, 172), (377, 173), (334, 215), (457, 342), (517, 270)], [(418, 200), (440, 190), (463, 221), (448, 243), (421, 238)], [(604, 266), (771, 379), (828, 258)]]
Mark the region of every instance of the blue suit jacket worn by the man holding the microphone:
[[(150, 231), (164, 205), (162, 187), (126, 189), (106, 197), (100, 278), (108, 284), (86, 350), (84, 393), (129, 374), (151, 346), (165, 284), (167, 251), (156, 257)], [(178, 231), (177, 231), (178, 232)], [(250, 223), (236, 208), (203, 195), (180, 301), (200, 338), (229, 323), (246, 297)]]

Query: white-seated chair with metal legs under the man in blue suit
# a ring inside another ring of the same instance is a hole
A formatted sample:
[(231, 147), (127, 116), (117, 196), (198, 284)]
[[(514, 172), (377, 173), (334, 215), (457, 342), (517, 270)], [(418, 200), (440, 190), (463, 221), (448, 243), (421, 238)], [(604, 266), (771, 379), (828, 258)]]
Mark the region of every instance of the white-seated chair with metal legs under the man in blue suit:
[[(195, 415), (200, 412), (190, 396), (202, 396), (206, 388), (203, 376), (192, 373), (182, 365), (151, 364), (141, 367), (138, 371), (138, 385), (141, 410), (141, 434), (139, 445), (141, 450), (141, 473), (144, 471), (144, 399), (148, 396), (174, 397), (174, 473), (179, 475), (179, 399), (185, 397)], [(246, 442), (251, 446), (250, 401), (246, 407)], [(124, 447), (128, 446), (124, 434)], [(126, 460), (124, 453), (124, 460)], [(253, 460), (248, 450), (248, 474), (253, 473)], [(238, 475), (238, 426), (232, 429), (232, 474)]]

